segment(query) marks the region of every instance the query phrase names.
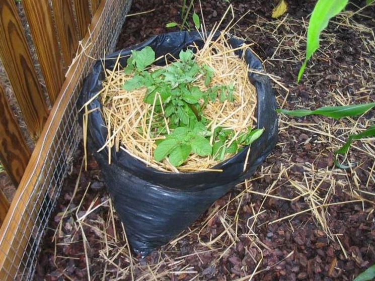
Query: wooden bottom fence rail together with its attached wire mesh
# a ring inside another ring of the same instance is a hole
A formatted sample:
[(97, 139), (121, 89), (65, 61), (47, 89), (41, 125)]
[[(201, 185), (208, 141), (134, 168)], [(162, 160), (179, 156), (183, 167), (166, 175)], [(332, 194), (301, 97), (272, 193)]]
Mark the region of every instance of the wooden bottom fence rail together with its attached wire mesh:
[(59, 122), (57, 126), (56, 122), (47, 123), (33, 154), (33, 171), (23, 184), (25, 188), (16, 194), (10, 219), (2, 226), (1, 280), (33, 278), (43, 235), (82, 137), (77, 100), (83, 80), (95, 62), (93, 58), (113, 50), (130, 4), (131, 0), (105, 1), (102, 13), (97, 14), (99, 18), (93, 20), (90, 36), (81, 43), (67, 74), (69, 83), (54, 105), (56, 110), (51, 112), (50, 118)]

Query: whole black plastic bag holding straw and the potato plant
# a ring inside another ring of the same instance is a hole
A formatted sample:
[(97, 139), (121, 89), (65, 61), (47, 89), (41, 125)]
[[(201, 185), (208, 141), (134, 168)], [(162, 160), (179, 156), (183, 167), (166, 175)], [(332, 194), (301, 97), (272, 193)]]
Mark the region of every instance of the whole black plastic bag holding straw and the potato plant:
[[(231, 38), (229, 42), (233, 48), (244, 43), (236, 38)], [(124, 67), (131, 50), (151, 46), (156, 57), (168, 53), (178, 57), (181, 49), (192, 48), (193, 43), (198, 48), (203, 46), (203, 41), (196, 32), (167, 33), (115, 52), (105, 60), (99, 60), (84, 83), (81, 105), (101, 90), (101, 81), (105, 77), (103, 66), (113, 69), (119, 55), (119, 63)], [(242, 51), (237, 51), (236, 54), (242, 56)], [(246, 50), (244, 59), (250, 69), (262, 71), (261, 62), (250, 49)], [(161, 59), (156, 64), (162, 65), (163, 61)], [(112, 163), (108, 164), (108, 151), (96, 152), (104, 145), (108, 133), (102, 113), (95, 110), (89, 114), (88, 144), (99, 163), (115, 210), (125, 226), (127, 239), (135, 253), (145, 256), (178, 235), (216, 199), (249, 178), (274, 148), (277, 141), (276, 100), (270, 81), (265, 75), (251, 72), (249, 79), (257, 89), (257, 126), (265, 130), (261, 137), (251, 144), (245, 172), (243, 169), (247, 148), (214, 167), (222, 169), (222, 172), (162, 172), (147, 167), (123, 150), (112, 150)], [(100, 99), (96, 98), (88, 105), (88, 110), (101, 107)]]

